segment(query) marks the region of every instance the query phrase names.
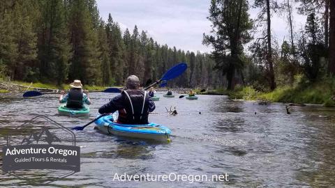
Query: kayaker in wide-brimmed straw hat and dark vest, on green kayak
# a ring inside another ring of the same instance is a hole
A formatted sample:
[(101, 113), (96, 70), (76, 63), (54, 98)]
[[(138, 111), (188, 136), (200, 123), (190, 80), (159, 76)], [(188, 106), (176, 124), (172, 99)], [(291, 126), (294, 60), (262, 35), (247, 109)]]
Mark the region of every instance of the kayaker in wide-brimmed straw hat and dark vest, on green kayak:
[(75, 79), (70, 84), (70, 87), (70, 91), (66, 95), (64, 95), (64, 91), (61, 91), (59, 103), (66, 102), (66, 107), (70, 109), (82, 109), (84, 104), (91, 104), (89, 92), (82, 90), (82, 82), (80, 80)]

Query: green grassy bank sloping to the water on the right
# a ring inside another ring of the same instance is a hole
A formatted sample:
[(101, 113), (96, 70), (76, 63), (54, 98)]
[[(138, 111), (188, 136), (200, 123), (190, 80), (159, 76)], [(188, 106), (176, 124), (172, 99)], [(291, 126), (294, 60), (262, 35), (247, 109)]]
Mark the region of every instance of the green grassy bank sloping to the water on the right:
[(323, 79), (315, 83), (308, 81), (296, 83), (293, 86), (284, 86), (275, 91), (262, 93), (251, 87), (239, 87), (234, 91), (218, 89), (214, 91), (231, 98), (244, 100), (269, 100), (271, 102), (285, 102), (297, 104), (325, 104), (325, 107), (335, 107), (334, 100), (331, 100), (335, 92), (335, 79)]

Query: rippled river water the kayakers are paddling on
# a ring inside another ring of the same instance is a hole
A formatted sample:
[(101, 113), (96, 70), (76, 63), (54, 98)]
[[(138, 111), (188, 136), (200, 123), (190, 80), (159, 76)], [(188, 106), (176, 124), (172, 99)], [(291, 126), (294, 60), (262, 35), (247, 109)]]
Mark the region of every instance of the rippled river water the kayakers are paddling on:
[[(91, 93), (90, 117), (69, 118), (58, 116), (57, 95), (22, 99), (19, 94), (2, 94), (0, 146), (6, 144), (6, 133), (38, 114), (68, 128), (84, 125), (113, 95)], [(81, 147), (80, 172), (49, 184), (40, 184), (38, 179), (48, 172), (29, 171), (27, 179), (0, 173), (0, 187), (335, 186), (335, 109), (291, 107), (291, 114), (287, 114), (284, 104), (262, 106), (213, 95), (199, 95), (194, 101), (158, 95), (161, 100), (155, 102), (156, 113), (149, 120), (170, 127), (171, 143), (108, 136), (94, 130), (92, 124), (75, 132)], [(166, 112), (165, 107), (171, 106), (177, 107), (177, 116)], [(116, 173), (208, 178), (200, 182), (191, 178), (186, 182), (120, 182), (114, 179)], [(212, 175), (225, 173), (228, 182), (211, 181)]]

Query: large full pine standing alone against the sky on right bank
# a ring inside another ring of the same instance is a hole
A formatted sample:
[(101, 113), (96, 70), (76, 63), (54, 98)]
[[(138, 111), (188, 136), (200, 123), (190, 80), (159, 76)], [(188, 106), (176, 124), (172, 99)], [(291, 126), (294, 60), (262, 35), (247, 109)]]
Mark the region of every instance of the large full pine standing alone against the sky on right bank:
[(214, 36), (204, 35), (203, 42), (214, 47), (211, 55), (216, 61), (216, 68), (227, 76), (227, 88), (231, 90), (234, 88), (235, 72), (244, 65), (240, 58), (243, 45), (251, 40), (248, 32), (252, 28), (248, 3), (245, 0), (212, 0), (209, 14)]

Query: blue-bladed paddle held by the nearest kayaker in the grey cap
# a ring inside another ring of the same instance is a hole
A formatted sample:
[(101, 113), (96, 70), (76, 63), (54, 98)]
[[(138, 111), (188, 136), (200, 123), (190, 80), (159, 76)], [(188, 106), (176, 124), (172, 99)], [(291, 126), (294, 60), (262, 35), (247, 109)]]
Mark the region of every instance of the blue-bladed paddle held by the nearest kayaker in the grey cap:
[[(170, 68), (167, 72), (165, 72), (165, 74), (163, 75), (163, 77), (161, 79), (158, 79), (157, 81), (155, 81), (154, 84), (151, 84), (150, 86), (147, 86), (147, 88), (144, 88), (144, 90), (147, 90), (147, 89), (151, 88), (151, 86), (154, 86), (155, 84), (159, 84), (163, 80), (168, 81), (170, 79), (174, 79), (175, 77), (178, 77), (183, 72), (185, 72), (186, 68), (187, 68), (186, 63), (179, 63), (177, 65), (174, 65), (174, 67)], [(119, 92), (121, 92), (121, 91), (119, 90)], [(101, 117), (106, 116), (106, 115), (107, 114), (102, 114), (101, 116), (98, 116), (98, 118), (101, 118)], [(94, 121), (98, 120), (98, 118), (95, 118), (94, 120), (92, 120), (91, 122), (87, 123), (84, 126), (74, 127), (74, 128), (72, 128), (72, 130), (84, 130), (84, 127), (87, 127), (89, 124), (94, 123)]]

